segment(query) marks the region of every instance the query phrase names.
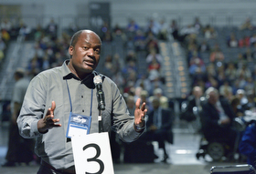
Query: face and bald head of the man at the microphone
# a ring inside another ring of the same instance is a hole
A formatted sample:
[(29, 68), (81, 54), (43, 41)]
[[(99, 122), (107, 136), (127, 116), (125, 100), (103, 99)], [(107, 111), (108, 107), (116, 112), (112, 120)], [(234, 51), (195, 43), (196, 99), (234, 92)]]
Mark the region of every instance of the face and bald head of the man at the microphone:
[(78, 74), (89, 74), (100, 61), (101, 40), (93, 32), (83, 31), (75, 46), (69, 46), (70, 63)]

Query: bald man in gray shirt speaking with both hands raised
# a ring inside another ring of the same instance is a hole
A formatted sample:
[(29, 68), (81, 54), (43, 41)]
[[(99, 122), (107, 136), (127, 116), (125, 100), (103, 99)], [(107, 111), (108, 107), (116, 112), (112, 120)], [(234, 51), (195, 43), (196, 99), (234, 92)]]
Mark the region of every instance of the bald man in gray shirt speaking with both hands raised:
[[(24, 138), (37, 138), (36, 153), (42, 159), (38, 174), (75, 173), (69, 135), (77, 116), (86, 121), (86, 134), (99, 132), (99, 105), (93, 78), (101, 55), (101, 39), (91, 30), (75, 33), (69, 46), (70, 59), (34, 77), (28, 88), (17, 124)], [(127, 111), (118, 87), (101, 75), (104, 109), (102, 131), (113, 129), (123, 141), (131, 142), (144, 132), (147, 109), (139, 98), (134, 118)], [(80, 124), (82, 121), (80, 122)], [(81, 124), (83, 125), (83, 124)]]

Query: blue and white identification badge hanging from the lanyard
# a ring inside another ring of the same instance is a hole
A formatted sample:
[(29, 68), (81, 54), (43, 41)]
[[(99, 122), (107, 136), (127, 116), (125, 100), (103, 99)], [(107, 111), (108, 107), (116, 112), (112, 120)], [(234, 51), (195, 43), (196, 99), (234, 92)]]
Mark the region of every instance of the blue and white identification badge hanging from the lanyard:
[(66, 137), (87, 135), (90, 133), (90, 127), (91, 117), (70, 112)]

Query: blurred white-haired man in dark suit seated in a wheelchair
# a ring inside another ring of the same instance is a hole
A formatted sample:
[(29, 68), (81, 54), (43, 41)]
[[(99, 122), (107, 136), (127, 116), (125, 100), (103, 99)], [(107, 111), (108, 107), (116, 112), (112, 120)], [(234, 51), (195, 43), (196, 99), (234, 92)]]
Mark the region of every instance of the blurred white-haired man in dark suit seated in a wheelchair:
[(202, 131), (207, 139), (225, 140), (233, 147), (237, 132), (231, 128), (234, 112), (225, 97), (219, 97), (219, 91), (214, 87), (206, 90), (207, 99), (202, 104)]

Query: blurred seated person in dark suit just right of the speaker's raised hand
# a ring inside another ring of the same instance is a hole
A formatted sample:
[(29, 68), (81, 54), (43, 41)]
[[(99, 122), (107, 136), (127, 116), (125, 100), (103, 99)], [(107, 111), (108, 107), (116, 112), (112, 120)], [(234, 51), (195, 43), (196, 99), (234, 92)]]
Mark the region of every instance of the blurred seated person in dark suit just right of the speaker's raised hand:
[(146, 132), (140, 139), (157, 141), (158, 147), (164, 149), (164, 159), (166, 162), (168, 154), (165, 149), (165, 140), (173, 144), (172, 124), (174, 113), (171, 109), (160, 107), (158, 97), (153, 99), (154, 109), (148, 113), (148, 120), (146, 122)]

